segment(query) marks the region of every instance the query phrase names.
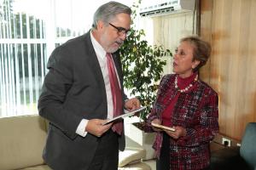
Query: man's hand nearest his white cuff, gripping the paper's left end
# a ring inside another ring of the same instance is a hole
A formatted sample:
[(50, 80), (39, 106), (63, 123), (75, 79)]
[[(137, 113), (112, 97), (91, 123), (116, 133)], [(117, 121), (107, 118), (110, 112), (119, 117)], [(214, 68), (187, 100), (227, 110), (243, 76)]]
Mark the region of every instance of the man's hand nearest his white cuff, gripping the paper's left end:
[(102, 125), (107, 120), (102, 119), (90, 119), (85, 127), (85, 131), (91, 133), (97, 137), (101, 137), (103, 133), (106, 133), (113, 123)]

